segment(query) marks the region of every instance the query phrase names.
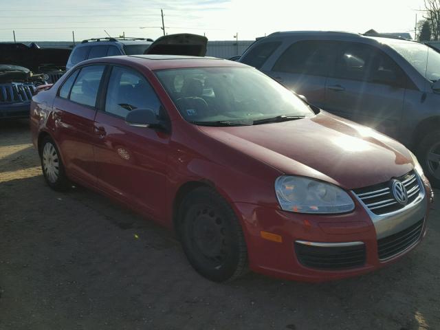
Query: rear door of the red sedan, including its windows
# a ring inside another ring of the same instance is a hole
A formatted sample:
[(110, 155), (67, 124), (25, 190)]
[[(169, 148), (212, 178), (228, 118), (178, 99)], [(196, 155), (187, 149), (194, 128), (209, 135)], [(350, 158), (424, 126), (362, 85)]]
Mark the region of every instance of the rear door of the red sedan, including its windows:
[(96, 184), (94, 118), (104, 65), (76, 69), (65, 80), (54, 101), (56, 142), (69, 175)]

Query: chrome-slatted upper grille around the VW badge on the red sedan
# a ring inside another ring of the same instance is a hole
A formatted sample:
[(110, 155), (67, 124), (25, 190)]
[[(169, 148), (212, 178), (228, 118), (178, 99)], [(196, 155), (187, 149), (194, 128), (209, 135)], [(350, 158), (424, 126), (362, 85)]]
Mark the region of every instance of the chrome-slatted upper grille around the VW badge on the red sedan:
[[(414, 201), (421, 189), (415, 171), (412, 170), (410, 173), (397, 177), (396, 179), (401, 181), (406, 188), (408, 194), (408, 202), (406, 204)], [(376, 184), (375, 186), (355, 189), (353, 192), (371, 212), (378, 215), (397, 211), (406, 205), (402, 205), (396, 201), (391, 190), (391, 181)]]

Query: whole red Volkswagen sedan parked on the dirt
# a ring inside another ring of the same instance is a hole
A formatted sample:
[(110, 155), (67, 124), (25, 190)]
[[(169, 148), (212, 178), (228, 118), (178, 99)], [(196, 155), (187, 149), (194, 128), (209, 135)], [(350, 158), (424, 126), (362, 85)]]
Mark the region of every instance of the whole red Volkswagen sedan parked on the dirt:
[(432, 190), (408, 149), (217, 58), (85, 61), (34, 96), (47, 184), (73, 181), (174, 228), (212, 281), (375, 270), (425, 236)]

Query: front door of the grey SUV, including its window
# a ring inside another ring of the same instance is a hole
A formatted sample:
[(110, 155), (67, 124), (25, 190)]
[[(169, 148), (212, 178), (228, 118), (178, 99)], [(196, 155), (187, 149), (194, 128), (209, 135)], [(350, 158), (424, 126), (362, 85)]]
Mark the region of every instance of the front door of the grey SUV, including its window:
[(408, 77), (377, 47), (340, 43), (323, 108), (397, 137)]

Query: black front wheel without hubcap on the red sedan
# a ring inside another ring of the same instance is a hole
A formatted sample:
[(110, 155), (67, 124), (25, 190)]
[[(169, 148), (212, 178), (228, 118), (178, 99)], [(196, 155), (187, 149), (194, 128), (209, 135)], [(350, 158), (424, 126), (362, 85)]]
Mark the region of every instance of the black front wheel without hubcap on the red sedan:
[(179, 234), (192, 267), (211, 281), (232, 281), (248, 270), (243, 230), (227, 201), (211, 188), (192, 190), (181, 204)]

